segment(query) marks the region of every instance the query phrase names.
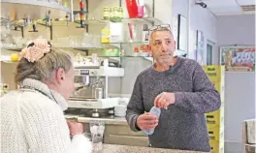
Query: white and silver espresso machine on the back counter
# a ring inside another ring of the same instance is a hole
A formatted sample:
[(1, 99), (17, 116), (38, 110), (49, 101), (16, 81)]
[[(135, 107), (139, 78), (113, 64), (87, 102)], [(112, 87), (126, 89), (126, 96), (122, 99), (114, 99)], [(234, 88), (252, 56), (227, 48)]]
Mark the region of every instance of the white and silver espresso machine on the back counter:
[(109, 98), (109, 77), (124, 76), (124, 69), (109, 66), (75, 66), (75, 91), (68, 101), (69, 108), (92, 109), (92, 117), (100, 117), (99, 110), (118, 105), (119, 98)]

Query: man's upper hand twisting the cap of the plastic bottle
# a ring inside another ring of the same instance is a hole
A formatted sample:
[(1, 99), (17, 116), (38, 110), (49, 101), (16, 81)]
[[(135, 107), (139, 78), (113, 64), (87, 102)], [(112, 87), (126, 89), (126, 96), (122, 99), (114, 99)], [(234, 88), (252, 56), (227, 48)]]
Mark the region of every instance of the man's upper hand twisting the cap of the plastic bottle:
[(167, 109), (170, 105), (175, 104), (176, 96), (175, 93), (171, 92), (162, 92), (155, 98), (154, 106), (155, 107), (163, 107)]

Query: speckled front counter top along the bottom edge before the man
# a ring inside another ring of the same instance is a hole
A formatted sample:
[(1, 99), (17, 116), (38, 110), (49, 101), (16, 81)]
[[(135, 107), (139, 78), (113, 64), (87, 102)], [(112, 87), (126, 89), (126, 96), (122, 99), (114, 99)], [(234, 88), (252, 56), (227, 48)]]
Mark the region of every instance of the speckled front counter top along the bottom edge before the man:
[(163, 148), (103, 144), (103, 150), (97, 153), (203, 153), (199, 151), (184, 151)]

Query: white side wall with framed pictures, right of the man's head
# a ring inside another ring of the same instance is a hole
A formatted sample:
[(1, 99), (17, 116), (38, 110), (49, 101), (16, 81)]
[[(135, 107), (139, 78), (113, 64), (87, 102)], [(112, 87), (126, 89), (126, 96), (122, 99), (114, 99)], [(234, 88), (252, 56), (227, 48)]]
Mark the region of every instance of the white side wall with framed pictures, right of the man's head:
[[(179, 14), (187, 18), (189, 24), (189, 58), (194, 58), (193, 44), (196, 41), (196, 31), (200, 30), (204, 33), (205, 46), (203, 52), (204, 64), (207, 63), (207, 42), (210, 41), (214, 44), (217, 43), (216, 38), (216, 16), (212, 15), (208, 9), (204, 9), (195, 5), (194, 0), (174, 0), (173, 1), (173, 15), (174, 17)], [(213, 64), (217, 64), (218, 54), (217, 48), (213, 48)]]

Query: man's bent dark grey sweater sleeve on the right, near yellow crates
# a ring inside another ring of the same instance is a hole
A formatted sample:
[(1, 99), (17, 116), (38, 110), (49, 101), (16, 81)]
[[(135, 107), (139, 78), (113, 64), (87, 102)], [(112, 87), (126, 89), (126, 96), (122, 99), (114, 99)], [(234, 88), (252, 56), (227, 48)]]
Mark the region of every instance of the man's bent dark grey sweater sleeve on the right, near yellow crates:
[(207, 113), (221, 106), (220, 95), (208, 79), (202, 66), (196, 63), (193, 72), (193, 92), (176, 92), (175, 106), (193, 113)]

